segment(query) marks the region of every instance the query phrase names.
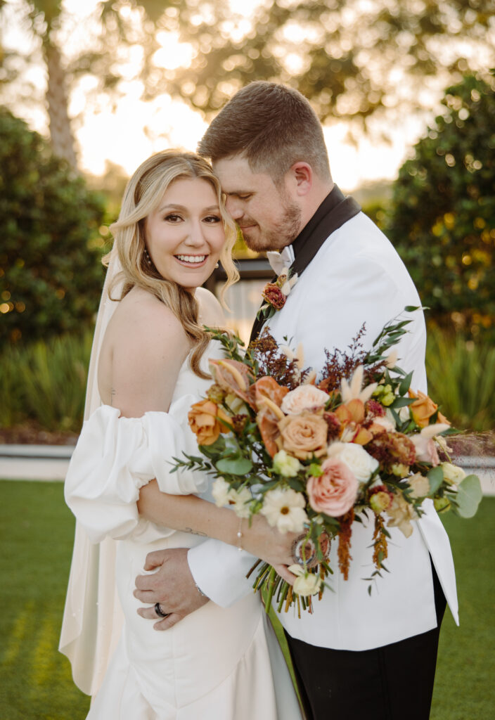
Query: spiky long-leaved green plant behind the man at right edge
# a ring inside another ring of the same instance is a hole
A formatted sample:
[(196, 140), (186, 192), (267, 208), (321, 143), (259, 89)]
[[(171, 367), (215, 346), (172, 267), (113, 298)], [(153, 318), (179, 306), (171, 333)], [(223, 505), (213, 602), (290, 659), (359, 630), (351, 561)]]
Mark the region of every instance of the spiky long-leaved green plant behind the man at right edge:
[(495, 347), (491, 341), (466, 340), (440, 328), (428, 332), (428, 392), (459, 430), (495, 426)]

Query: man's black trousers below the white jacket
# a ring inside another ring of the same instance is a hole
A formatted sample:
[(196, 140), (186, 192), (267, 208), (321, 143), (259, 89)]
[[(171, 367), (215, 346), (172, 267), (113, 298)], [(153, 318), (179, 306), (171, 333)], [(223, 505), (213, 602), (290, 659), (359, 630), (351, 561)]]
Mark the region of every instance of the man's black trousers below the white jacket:
[(437, 627), (354, 652), (286, 633), (307, 720), (428, 720), (445, 596), (432, 564)]

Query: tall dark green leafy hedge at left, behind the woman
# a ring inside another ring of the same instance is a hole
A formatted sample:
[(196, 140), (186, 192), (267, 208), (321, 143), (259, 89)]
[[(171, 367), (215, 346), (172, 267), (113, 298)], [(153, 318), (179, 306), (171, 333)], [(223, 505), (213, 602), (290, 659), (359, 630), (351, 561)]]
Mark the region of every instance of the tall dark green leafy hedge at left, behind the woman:
[(0, 108), (0, 341), (88, 325), (103, 269), (101, 197)]

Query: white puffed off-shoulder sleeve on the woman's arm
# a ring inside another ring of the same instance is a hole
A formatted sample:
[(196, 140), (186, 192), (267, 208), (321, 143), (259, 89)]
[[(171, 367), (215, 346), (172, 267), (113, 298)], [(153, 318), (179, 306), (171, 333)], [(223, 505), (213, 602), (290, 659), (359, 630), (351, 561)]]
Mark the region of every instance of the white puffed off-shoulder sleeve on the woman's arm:
[[(121, 418), (101, 405), (83, 425), (65, 478), (65, 502), (93, 542), (105, 537), (150, 541), (173, 530), (154, 526), (137, 512), (139, 490), (156, 478), (162, 492), (204, 492), (205, 474), (173, 469), (173, 458), (197, 451), (187, 413), (196, 402), (184, 395), (168, 413)], [(150, 536), (151, 535), (151, 536)]]

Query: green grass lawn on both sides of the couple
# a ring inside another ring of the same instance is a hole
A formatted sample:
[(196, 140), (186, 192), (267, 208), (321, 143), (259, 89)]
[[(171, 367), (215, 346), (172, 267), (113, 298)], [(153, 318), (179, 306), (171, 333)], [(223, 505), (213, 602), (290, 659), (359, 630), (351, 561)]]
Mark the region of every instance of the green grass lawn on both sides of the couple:
[[(461, 626), (446, 614), (432, 720), (494, 717), (494, 519), (495, 498), (483, 500), (473, 521), (445, 517)], [(73, 540), (62, 484), (1, 481), (0, 540), (0, 719), (82, 720), (88, 698), (57, 651)]]

